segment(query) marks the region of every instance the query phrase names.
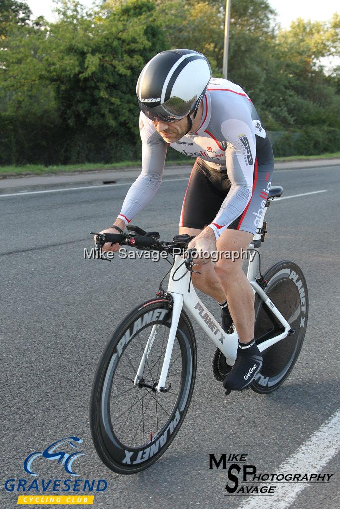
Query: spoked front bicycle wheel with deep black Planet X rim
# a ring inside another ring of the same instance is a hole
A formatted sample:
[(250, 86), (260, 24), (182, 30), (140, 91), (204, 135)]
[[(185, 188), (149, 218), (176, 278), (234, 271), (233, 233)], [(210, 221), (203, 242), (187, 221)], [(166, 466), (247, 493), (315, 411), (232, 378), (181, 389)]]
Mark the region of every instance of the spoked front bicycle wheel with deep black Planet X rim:
[[(159, 381), (171, 326), (170, 302), (146, 302), (130, 313), (99, 361), (90, 403), (92, 439), (101, 461), (118, 473), (136, 473), (160, 458), (187, 413), (196, 376), (196, 341), (182, 310), (166, 392)], [(148, 344), (148, 349), (146, 346)], [(134, 385), (144, 352), (145, 385)]]

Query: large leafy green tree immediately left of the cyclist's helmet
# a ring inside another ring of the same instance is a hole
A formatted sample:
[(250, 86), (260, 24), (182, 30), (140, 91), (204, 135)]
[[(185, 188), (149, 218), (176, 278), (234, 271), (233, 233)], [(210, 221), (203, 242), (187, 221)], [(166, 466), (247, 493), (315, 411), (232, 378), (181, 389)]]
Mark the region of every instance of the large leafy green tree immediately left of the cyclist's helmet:
[(77, 2), (62, 3), (45, 64), (72, 133), (72, 159), (88, 159), (96, 150), (101, 160), (135, 155), (137, 78), (164, 49), (154, 11), (149, 0), (106, 2), (87, 17)]

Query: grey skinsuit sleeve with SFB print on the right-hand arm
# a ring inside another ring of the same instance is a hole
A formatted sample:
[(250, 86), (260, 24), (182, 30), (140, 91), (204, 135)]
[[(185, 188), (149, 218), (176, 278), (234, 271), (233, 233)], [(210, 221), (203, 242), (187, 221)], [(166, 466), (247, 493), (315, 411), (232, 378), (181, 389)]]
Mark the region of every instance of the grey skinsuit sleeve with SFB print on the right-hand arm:
[(216, 240), (247, 207), (253, 188), (254, 161), (256, 157), (255, 133), (250, 122), (226, 120), (221, 125), (226, 139), (225, 162), (231, 188), (215, 219), (208, 224)]

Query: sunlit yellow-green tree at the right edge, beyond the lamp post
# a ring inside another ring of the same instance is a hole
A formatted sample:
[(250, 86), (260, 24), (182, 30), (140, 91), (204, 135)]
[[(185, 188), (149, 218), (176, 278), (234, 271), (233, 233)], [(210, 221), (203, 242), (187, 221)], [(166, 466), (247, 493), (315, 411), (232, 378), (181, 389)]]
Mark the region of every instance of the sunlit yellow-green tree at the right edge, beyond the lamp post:
[(330, 125), (340, 128), (340, 96), (336, 79), (325, 75), (322, 58), (339, 55), (340, 18), (329, 22), (297, 19), (278, 34), (286, 109), (292, 125)]

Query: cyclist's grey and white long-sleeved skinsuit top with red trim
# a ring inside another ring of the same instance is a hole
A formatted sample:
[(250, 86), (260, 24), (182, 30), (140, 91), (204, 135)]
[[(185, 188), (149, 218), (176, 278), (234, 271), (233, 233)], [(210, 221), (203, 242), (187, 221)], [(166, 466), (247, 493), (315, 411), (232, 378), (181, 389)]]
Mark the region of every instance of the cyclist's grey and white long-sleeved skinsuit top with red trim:
[[(142, 173), (124, 200), (119, 217), (125, 223), (150, 202), (162, 183), (164, 172), (168, 144), (142, 112), (140, 133)], [(227, 173), (230, 191), (215, 219), (208, 225), (217, 238), (221, 225), (225, 228), (231, 224), (251, 199), (255, 158), (258, 162), (267, 162), (272, 157), (270, 142), (253, 103), (236, 83), (211, 78), (203, 98), (203, 114), (197, 131), (186, 134), (170, 146), (189, 157), (205, 160), (218, 172)]]

